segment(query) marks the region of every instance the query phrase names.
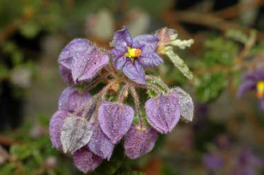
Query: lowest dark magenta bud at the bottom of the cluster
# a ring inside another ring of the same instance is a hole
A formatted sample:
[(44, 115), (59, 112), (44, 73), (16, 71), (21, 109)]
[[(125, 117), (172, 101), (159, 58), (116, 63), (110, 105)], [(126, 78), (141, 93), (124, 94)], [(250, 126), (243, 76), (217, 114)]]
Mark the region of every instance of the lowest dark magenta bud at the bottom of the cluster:
[(80, 171), (87, 173), (98, 167), (102, 163), (102, 158), (93, 154), (88, 146), (84, 146), (73, 153), (73, 162)]

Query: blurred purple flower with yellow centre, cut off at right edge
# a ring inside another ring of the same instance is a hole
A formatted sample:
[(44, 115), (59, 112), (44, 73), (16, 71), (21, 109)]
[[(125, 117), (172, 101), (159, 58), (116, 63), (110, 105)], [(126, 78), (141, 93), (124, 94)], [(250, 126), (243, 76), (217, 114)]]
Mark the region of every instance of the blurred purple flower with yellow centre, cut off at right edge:
[(238, 98), (241, 98), (249, 90), (257, 91), (258, 105), (264, 111), (264, 70), (249, 72), (243, 77), (243, 81), (237, 92)]

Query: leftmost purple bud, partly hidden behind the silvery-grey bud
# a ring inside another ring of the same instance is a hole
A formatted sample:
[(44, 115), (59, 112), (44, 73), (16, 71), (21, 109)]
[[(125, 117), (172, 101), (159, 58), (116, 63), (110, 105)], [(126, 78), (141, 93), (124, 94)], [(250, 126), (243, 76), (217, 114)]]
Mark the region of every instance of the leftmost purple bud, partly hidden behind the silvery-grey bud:
[(66, 119), (67, 116), (69, 116), (68, 112), (58, 110), (50, 119), (50, 140), (57, 150), (62, 149), (62, 125), (64, 124), (64, 119)]

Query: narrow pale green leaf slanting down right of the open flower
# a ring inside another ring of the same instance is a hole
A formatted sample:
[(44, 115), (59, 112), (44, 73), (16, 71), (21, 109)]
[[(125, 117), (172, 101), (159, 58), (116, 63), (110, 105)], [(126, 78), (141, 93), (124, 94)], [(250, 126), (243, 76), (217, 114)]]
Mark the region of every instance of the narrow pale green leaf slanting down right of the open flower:
[(185, 62), (178, 56), (178, 54), (173, 52), (173, 48), (171, 46), (167, 46), (165, 48), (164, 54), (167, 54), (169, 56), (169, 59), (171, 59), (173, 65), (182, 72), (184, 76), (187, 77), (187, 79), (194, 79), (194, 75), (189, 70), (188, 66), (185, 64)]

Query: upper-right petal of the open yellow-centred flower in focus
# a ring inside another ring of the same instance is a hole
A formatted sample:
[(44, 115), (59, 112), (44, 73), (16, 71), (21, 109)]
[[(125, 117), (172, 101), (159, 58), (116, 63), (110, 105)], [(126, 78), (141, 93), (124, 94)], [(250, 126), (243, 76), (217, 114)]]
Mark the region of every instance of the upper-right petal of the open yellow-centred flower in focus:
[(142, 34), (133, 39), (133, 48), (140, 48), (142, 57), (155, 52), (157, 44), (158, 38), (153, 34)]

